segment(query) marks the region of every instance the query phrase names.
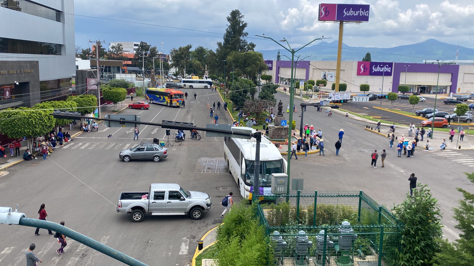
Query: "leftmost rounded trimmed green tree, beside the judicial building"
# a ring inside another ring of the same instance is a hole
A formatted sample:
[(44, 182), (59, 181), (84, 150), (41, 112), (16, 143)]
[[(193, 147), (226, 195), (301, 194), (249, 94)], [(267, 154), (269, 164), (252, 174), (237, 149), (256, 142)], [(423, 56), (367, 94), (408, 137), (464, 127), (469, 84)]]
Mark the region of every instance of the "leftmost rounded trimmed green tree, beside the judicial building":
[(36, 137), (49, 133), (55, 118), (50, 110), (38, 110), (28, 107), (8, 108), (0, 112), (0, 131), (10, 138), (27, 138), (27, 148), (31, 149)]

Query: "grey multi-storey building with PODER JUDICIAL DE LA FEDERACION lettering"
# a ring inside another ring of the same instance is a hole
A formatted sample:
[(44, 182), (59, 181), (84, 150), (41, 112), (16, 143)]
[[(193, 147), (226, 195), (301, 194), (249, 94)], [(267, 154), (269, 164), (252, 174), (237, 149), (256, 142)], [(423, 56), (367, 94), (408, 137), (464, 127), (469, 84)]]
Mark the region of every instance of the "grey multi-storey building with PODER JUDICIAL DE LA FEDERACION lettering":
[(0, 109), (73, 93), (73, 0), (4, 0), (0, 17)]

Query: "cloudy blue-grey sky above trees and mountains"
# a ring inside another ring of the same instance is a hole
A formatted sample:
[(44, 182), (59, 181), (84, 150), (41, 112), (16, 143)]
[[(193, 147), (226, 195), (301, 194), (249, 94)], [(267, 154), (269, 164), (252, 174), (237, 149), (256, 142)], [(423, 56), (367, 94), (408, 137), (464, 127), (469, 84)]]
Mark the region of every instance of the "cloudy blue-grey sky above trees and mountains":
[[(346, 24), (343, 42), (350, 46), (393, 47), (434, 38), (474, 48), (472, 0), (325, 0), (323, 3), (370, 4), (369, 22)], [(248, 41), (255, 50), (278, 49), (272, 41), (285, 37), (307, 43), (320, 37), (337, 41), (338, 25), (318, 21), (316, 0), (74, 0), (75, 43), (88, 40), (145, 41), (169, 51), (192, 44), (215, 49), (222, 41), (227, 16), (239, 9), (248, 24)], [(104, 20), (102, 18), (121, 20)], [(136, 23), (130, 23), (136, 22)], [(164, 27), (159, 27), (159, 26)], [(298, 46), (295, 45), (295, 46)]]

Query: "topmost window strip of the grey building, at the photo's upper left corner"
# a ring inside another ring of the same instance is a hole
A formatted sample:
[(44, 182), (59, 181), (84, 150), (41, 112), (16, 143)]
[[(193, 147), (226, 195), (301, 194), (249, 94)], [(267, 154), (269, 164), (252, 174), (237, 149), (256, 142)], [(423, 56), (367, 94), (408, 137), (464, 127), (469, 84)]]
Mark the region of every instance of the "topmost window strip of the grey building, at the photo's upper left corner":
[(3, 0), (1, 7), (17, 10), (33, 16), (61, 22), (61, 11), (50, 9), (26, 0)]

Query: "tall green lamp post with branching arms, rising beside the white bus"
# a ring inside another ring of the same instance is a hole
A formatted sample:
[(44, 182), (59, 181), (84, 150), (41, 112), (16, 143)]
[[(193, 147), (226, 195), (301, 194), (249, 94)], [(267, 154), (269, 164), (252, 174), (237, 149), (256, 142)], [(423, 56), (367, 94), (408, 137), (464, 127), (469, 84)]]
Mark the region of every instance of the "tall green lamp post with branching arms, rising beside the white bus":
[[(303, 49), (304, 47), (308, 46), (309, 44), (311, 44), (312, 42), (316, 41), (316, 40), (322, 40), (322, 39), (329, 39), (328, 37), (324, 37), (322, 36), (321, 38), (317, 38), (317, 39), (314, 39), (312, 41), (310, 41), (308, 44), (305, 44), (303, 46), (301, 46), (300, 48), (298, 49), (294, 49), (290, 46), (290, 43), (288, 42), (288, 40), (286, 38), (283, 38), (282, 40), (280, 40), (280, 42), (286, 42), (286, 44), (288, 44), (288, 48), (286, 48), (285, 46), (283, 46), (282, 44), (280, 44), (279, 42), (275, 41), (273, 38), (270, 38), (268, 36), (265, 36), (265, 35), (255, 35), (255, 36), (258, 36), (258, 37), (263, 37), (265, 39), (270, 39), (272, 40), (273, 42), (275, 42), (276, 44), (282, 46), (286, 51), (292, 53), (292, 74), (291, 74), (291, 80), (290, 80), (290, 108), (292, 108), (293, 106), (293, 97), (294, 97), (294, 91), (293, 91), (293, 88), (294, 88), (294, 80), (293, 80), (293, 62), (294, 62), (294, 56), (295, 56), (295, 53), (297, 53), (298, 51), (300, 51), (301, 49)], [(291, 159), (291, 140), (292, 140), (292, 121), (293, 121), (293, 112), (290, 112), (290, 115), (289, 115), (289, 118), (288, 118), (288, 155), (287, 155), (287, 168), (286, 168), (286, 174), (288, 175), (288, 179), (287, 179), (287, 189), (286, 189), (286, 194), (287, 195), (290, 195), (290, 159)]]

